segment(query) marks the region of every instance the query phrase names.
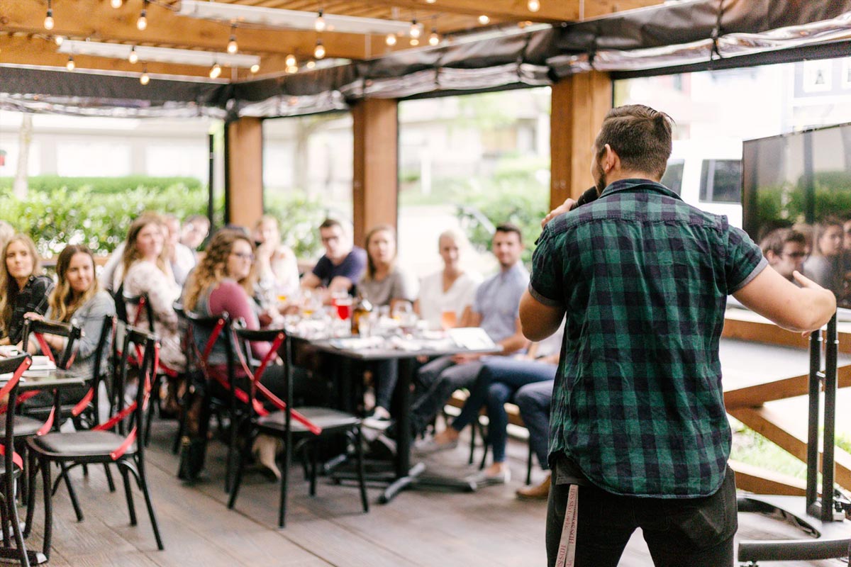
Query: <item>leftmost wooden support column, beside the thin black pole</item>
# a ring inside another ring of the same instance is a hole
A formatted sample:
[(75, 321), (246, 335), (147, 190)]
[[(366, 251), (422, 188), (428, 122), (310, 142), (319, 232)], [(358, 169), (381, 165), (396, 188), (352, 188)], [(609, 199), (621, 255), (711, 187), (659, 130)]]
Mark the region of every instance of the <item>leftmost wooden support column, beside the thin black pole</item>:
[(263, 215), (263, 122), (229, 122), (226, 143), (227, 222), (254, 228)]

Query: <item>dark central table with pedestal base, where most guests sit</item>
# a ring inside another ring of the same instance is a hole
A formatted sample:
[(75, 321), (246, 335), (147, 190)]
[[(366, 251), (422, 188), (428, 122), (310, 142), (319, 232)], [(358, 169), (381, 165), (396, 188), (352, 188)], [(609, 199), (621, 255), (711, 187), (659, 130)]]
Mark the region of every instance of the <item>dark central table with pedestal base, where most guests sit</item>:
[(391, 349), (391, 348), (368, 348), (349, 349), (341, 347), (334, 339), (309, 340), (297, 337), (290, 333), (291, 337), (310, 343), (314, 349), (337, 357), (355, 360), (357, 362), (377, 362), (381, 360), (398, 360), (399, 378), (396, 385), (397, 392), (401, 395), (400, 411), (397, 417), (396, 429), (396, 456), (393, 462), (392, 475), (373, 477), (370, 480), (387, 482), (386, 490), (380, 496), (379, 502), (385, 504), (390, 502), (400, 491), (414, 488), (417, 485), (443, 486), (461, 490), (476, 490), (476, 485), (468, 481), (458, 479), (446, 479), (441, 477), (426, 477), (426, 465), (418, 462), (411, 465), (411, 436), (410, 436), (410, 412), (411, 412), (411, 383), (414, 378), (414, 360), (420, 356), (436, 357), (449, 354), (494, 354), (500, 349), (463, 349), (447, 341), (417, 341), (420, 348), (417, 349)]

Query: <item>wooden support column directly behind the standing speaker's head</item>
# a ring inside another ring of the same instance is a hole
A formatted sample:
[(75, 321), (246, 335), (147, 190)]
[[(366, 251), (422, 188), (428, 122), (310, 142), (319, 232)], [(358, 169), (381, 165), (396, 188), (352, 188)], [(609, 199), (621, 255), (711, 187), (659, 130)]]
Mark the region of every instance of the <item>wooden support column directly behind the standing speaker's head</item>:
[(591, 145), (612, 108), (612, 81), (592, 71), (552, 86), (550, 113), (550, 207), (576, 199), (594, 184)]

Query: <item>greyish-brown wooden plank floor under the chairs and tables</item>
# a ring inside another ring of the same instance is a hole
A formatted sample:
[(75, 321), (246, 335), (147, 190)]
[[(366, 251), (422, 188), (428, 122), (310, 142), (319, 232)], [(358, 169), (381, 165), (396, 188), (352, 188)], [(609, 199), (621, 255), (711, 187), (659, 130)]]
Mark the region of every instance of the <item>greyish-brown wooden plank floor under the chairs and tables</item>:
[[(277, 530), (277, 485), (258, 474), (243, 484), (237, 510), (225, 506), (222, 490), (224, 451), (211, 444), (210, 480), (182, 485), (175, 477), (177, 459), (168, 452), (173, 422), (156, 424), (148, 454), (151, 485), (165, 551), (157, 551), (144, 503), (137, 493), (140, 525), (129, 526), (123, 493), (110, 494), (101, 469), (89, 479), (79, 473), (76, 486), (86, 519), (77, 523), (66, 490), (60, 489), (54, 510), (56, 567), (122, 567), (200, 565), (292, 565), (318, 567), (442, 567), (471, 565), (537, 567), (545, 565), (544, 502), (519, 502), (514, 490), (522, 485), (525, 447), (512, 442), (509, 458), (515, 479), (510, 485), (488, 487), (476, 494), (408, 491), (388, 505), (374, 503), (363, 514), (357, 490), (320, 482), (318, 495), (294, 474), (288, 527)], [(438, 462), (439, 461), (439, 462)], [(452, 463), (465, 462), (461, 449), (432, 462), (445, 472), (469, 473)], [(540, 473), (539, 473), (540, 475)], [(379, 491), (370, 490), (370, 502)], [(785, 524), (752, 514), (740, 517), (740, 536), (773, 539), (797, 536)], [(37, 524), (41, 522), (41, 509)], [(35, 533), (30, 545), (40, 545)], [(621, 560), (625, 567), (651, 565), (640, 534), (633, 536)], [(847, 563), (769, 563), (778, 567), (838, 567)]]

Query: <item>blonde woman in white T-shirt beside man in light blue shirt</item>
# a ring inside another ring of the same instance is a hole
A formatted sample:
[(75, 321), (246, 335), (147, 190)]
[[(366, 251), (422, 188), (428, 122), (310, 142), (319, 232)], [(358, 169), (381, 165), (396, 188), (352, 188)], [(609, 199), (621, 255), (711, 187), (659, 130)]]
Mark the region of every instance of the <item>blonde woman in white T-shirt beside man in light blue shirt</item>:
[(461, 265), (461, 253), (467, 247), (460, 230), (447, 230), (437, 237), (443, 269), (420, 281), (420, 297), (414, 303), (414, 310), (432, 329), (464, 326), (464, 315), (482, 283), (481, 275)]

